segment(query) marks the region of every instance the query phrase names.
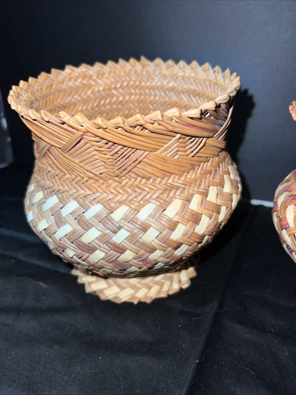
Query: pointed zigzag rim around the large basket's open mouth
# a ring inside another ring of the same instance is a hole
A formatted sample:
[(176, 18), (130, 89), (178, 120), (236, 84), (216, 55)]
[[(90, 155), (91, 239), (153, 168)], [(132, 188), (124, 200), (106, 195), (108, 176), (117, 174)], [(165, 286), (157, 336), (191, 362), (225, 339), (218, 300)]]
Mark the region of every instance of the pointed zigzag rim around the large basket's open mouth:
[[(22, 94), (28, 91), (32, 86), (41, 84), (48, 79), (55, 79), (61, 75), (69, 75), (72, 72), (79, 71), (87, 71), (89, 69), (94, 68), (102, 68), (108, 69), (110, 67), (134, 67), (140, 66), (142, 68), (145, 67), (175, 67), (178, 69), (185, 69), (185, 71), (191, 71), (196, 69), (196, 71), (200, 75), (204, 75), (205, 77), (215, 79), (215, 74), (220, 74), (223, 79), (229, 79), (228, 88), (226, 89), (223, 95), (218, 96), (212, 101), (204, 102), (198, 107), (192, 108), (187, 111), (181, 111), (178, 107), (170, 108), (165, 112), (160, 110), (156, 110), (151, 112), (148, 115), (143, 115), (137, 113), (132, 117), (125, 118), (123, 116), (117, 116), (112, 119), (106, 119), (103, 117), (96, 117), (93, 119), (87, 118), (83, 113), (77, 112), (74, 115), (70, 115), (65, 111), (60, 111), (59, 113), (52, 114), (47, 110), (39, 110), (38, 112), (33, 108), (30, 108), (29, 104), (30, 100), (22, 99)], [(15, 110), (20, 117), (33, 119), (33, 120), (43, 120), (46, 122), (54, 121), (55, 123), (65, 123), (71, 122), (73, 125), (79, 125), (81, 122), (87, 122), (88, 124), (94, 127), (106, 127), (106, 124), (112, 124), (115, 127), (120, 127), (120, 125), (128, 123), (135, 124), (146, 119), (152, 120), (161, 120), (163, 116), (168, 117), (176, 117), (179, 118), (181, 116), (185, 116), (188, 118), (201, 118), (201, 115), (206, 111), (215, 111), (216, 108), (221, 105), (227, 103), (232, 97), (235, 96), (236, 92), (240, 89), (240, 77), (237, 76), (236, 73), (230, 72), (227, 68), (222, 72), (220, 66), (211, 67), (210, 63), (206, 62), (203, 65), (199, 65), (195, 60), (190, 64), (186, 63), (184, 60), (180, 60), (178, 63), (175, 63), (173, 60), (169, 59), (167, 61), (163, 61), (161, 58), (157, 57), (152, 61), (149, 61), (146, 57), (141, 56), (140, 60), (136, 60), (135, 58), (130, 58), (128, 61), (119, 58), (117, 62), (109, 60), (106, 64), (101, 62), (95, 62), (93, 65), (88, 65), (86, 63), (82, 63), (79, 66), (75, 67), (72, 65), (67, 65), (63, 70), (61, 69), (51, 69), (50, 73), (41, 72), (37, 78), (30, 77), (28, 81), (20, 80), (19, 85), (13, 85), (8, 95), (8, 103), (11, 108)]]

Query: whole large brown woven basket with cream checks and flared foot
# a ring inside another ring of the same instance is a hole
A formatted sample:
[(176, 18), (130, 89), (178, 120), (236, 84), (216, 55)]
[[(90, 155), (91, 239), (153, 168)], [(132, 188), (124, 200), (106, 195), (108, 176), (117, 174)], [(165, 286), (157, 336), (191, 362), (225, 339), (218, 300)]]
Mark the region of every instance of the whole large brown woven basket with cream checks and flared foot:
[(12, 87), (8, 101), (35, 141), (27, 219), (88, 291), (136, 303), (189, 285), (195, 272), (181, 260), (240, 197), (225, 149), (239, 87), (228, 69), (145, 58)]

